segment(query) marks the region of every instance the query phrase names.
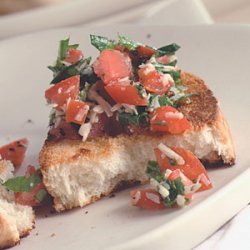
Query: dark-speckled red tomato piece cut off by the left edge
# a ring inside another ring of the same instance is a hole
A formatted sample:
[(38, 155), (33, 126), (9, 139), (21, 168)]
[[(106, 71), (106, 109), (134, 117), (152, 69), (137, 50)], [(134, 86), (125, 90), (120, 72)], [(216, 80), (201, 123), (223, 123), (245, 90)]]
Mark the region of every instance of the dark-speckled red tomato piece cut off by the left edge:
[(0, 147), (0, 155), (2, 159), (9, 160), (15, 167), (19, 167), (24, 160), (27, 147), (28, 140), (22, 138)]

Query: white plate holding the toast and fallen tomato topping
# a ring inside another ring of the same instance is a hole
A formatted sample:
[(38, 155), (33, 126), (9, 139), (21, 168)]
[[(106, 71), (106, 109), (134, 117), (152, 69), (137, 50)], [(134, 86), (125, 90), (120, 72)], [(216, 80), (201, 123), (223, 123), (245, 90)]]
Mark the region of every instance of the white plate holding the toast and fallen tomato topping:
[(210, 170), (214, 188), (195, 195), (184, 209), (142, 211), (129, 205), (125, 190), (83, 209), (38, 216), (36, 228), (15, 249), (190, 249), (250, 200), (248, 27), (88, 27), (5, 40), (0, 43), (0, 142), (27, 136), (30, 147), (24, 165), (37, 163), (48, 124), (43, 95), (51, 73), (46, 66), (56, 57), (58, 41), (70, 35), (85, 55), (96, 56), (89, 34), (115, 37), (118, 31), (149, 45), (177, 42), (182, 46), (179, 65), (201, 76), (221, 102), (235, 141), (237, 163)]

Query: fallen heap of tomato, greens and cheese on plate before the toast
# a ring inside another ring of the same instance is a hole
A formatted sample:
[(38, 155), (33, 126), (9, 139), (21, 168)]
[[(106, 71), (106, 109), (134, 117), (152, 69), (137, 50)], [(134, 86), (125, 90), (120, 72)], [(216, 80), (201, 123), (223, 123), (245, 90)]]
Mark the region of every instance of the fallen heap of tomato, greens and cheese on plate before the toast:
[(212, 188), (206, 169), (190, 151), (163, 144), (154, 151), (157, 161), (149, 161), (146, 170), (153, 188), (131, 191), (132, 205), (151, 210), (183, 207), (195, 192)]

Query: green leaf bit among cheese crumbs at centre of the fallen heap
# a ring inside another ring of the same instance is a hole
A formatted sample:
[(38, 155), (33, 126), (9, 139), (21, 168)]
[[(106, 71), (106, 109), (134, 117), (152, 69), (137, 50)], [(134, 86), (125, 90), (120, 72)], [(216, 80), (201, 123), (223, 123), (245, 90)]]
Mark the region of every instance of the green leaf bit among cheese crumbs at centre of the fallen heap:
[(167, 207), (172, 207), (175, 202), (176, 202), (176, 198), (177, 195), (184, 195), (184, 191), (185, 191), (185, 186), (181, 181), (181, 178), (177, 178), (173, 181), (167, 180), (166, 183), (169, 185), (170, 189), (169, 189), (169, 196), (166, 197), (163, 202), (165, 204), (165, 206)]

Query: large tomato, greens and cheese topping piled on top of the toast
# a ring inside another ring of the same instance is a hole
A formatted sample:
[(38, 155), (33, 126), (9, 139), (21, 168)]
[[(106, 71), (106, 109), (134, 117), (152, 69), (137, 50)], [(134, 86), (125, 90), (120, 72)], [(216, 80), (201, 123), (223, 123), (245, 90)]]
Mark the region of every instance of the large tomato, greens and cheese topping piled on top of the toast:
[[(71, 127), (83, 140), (89, 135), (146, 130), (181, 134), (190, 129), (190, 122), (178, 111), (184, 103), (180, 100), (190, 96), (184, 92), (186, 87), (181, 87), (181, 71), (175, 66), (178, 45), (157, 49), (120, 35), (118, 41), (95, 35), (90, 39), (100, 51), (94, 62), (66, 39), (60, 41), (56, 64), (49, 66), (53, 86), (45, 91), (45, 97), (53, 105), (51, 135), (60, 137), (55, 127), (59, 130), (65, 122), (75, 124)], [(103, 113), (105, 119), (101, 119)], [(62, 133), (61, 138), (67, 135)]]

